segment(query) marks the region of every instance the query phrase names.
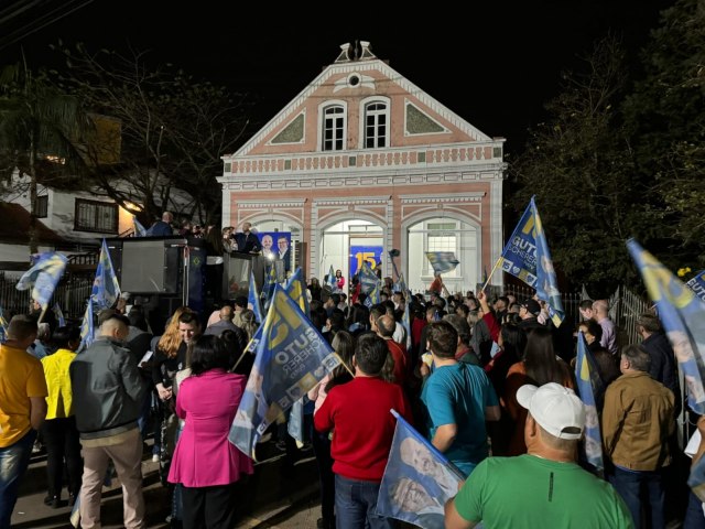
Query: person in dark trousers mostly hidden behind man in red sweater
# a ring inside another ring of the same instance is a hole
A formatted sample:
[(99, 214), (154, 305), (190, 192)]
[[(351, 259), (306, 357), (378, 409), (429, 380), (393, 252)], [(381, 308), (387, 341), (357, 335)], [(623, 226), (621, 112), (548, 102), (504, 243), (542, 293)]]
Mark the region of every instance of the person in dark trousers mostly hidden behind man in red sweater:
[[(352, 380), (352, 376), (348, 369), (352, 369), (355, 342), (355, 337), (347, 331), (338, 331), (333, 337), (333, 349), (340, 357), (343, 364), (337, 366), (333, 373), (323, 377), (321, 382), (308, 391), (308, 398), (314, 401), (314, 414), (318, 411), (318, 408), (321, 408), (332, 388)], [(333, 457), (330, 457), (330, 439), (327, 432), (319, 433), (313, 425), (311, 438), (321, 481), (322, 517), (317, 521), (317, 527), (318, 529), (334, 529), (335, 475), (333, 474)]]

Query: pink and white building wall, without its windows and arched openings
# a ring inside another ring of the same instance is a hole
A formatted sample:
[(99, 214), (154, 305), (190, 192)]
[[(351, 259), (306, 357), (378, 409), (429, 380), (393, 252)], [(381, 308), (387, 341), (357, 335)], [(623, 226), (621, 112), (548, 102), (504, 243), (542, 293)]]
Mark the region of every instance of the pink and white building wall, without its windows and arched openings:
[[(369, 50), (364, 56), (373, 57)], [(282, 220), (301, 229), (308, 276), (327, 273), (319, 255), (326, 229), (360, 219), (381, 227), (384, 250), (400, 249), (400, 272), (409, 282), (409, 229), (431, 218), (452, 218), (477, 231), (475, 288), (502, 248), (503, 139), (491, 139), (373, 57), (328, 66), (257, 132), (237, 153), (224, 156), (224, 225)], [(351, 84), (350, 79), (357, 78)], [(387, 147), (364, 149), (364, 108), (388, 105)], [(322, 151), (322, 112), (335, 102), (345, 108), (345, 148)], [(408, 106), (437, 123), (432, 133), (410, 133)], [(303, 133), (276, 140), (303, 119)], [(391, 260), (383, 256), (384, 276)], [(324, 269), (322, 269), (322, 267)], [(415, 270), (415, 268), (414, 268)], [(426, 278), (423, 278), (425, 280)], [(494, 277), (500, 284), (501, 274)]]

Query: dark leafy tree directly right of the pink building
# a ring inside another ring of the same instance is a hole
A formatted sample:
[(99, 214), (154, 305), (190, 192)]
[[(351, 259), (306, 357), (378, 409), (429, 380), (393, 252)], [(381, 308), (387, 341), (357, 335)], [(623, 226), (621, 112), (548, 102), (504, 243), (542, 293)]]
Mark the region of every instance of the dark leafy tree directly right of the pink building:
[(556, 269), (573, 287), (609, 293), (636, 279), (625, 241), (648, 212), (618, 111), (627, 86), (619, 41), (599, 41), (584, 65), (563, 74), (561, 94), (546, 105), (549, 120), (530, 131), (510, 175), (518, 212), (536, 195)]

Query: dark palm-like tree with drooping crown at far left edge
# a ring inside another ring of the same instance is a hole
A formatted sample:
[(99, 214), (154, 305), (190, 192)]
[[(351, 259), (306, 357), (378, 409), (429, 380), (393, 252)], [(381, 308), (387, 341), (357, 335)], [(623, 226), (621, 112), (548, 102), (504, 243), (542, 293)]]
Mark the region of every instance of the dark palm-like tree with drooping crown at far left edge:
[[(78, 99), (62, 91), (46, 72), (23, 61), (0, 76), (0, 171), (30, 177), (30, 252), (36, 239), (37, 183), (66, 182), (83, 165), (77, 138), (89, 122)], [(17, 190), (15, 190), (17, 191)]]

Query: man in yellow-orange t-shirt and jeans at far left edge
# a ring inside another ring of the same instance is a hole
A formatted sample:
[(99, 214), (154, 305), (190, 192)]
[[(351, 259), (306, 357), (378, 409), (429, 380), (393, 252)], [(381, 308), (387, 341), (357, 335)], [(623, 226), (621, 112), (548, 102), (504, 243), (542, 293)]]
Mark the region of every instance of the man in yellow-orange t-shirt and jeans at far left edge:
[(0, 528), (10, 527), (20, 479), (46, 415), (48, 395), (42, 363), (26, 353), (36, 338), (36, 320), (17, 315), (0, 344)]

